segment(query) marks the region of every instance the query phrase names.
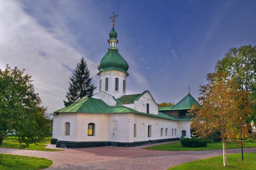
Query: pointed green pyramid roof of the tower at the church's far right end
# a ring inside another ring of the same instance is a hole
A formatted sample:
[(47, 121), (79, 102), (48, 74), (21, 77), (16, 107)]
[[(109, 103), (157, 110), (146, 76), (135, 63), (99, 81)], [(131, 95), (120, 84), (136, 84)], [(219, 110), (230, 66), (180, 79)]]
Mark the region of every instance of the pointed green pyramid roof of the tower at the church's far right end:
[(191, 96), (191, 94), (188, 94), (183, 99), (181, 99), (176, 105), (174, 105), (170, 110), (189, 109), (195, 104), (199, 105), (195, 98)]

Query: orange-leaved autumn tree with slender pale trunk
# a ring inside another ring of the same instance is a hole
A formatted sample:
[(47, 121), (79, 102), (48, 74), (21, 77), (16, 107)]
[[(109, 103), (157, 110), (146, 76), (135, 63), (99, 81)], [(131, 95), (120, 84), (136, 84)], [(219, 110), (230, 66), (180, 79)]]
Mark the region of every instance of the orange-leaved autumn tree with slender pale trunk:
[[(190, 129), (195, 129), (195, 136), (207, 137), (219, 130), (223, 143), (223, 163), (226, 161), (226, 139), (237, 141), (236, 135), (239, 129), (246, 129), (248, 126), (248, 115), (251, 114), (253, 101), (248, 99), (250, 94), (247, 91), (238, 90), (239, 84), (233, 79), (226, 80), (225, 73), (209, 73), (207, 75), (207, 85), (200, 86), (201, 97), (198, 98), (202, 108), (193, 105), (190, 112), (195, 113)], [(244, 130), (246, 134), (248, 130)], [(243, 145), (243, 143), (240, 143)]]

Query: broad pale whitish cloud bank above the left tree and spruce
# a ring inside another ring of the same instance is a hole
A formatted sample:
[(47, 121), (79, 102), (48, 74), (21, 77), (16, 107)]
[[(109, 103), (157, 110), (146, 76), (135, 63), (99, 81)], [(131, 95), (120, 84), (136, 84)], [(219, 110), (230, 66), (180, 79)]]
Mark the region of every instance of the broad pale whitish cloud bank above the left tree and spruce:
[[(52, 109), (48, 112), (63, 107), (71, 68), (80, 61), (82, 54), (60, 40), (66, 38), (64, 34), (56, 37), (55, 32), (49, 32), (40, 25), (18, 1), (1, 3), (0, 16), (1, 68), (5, 64), (12, 68), (25, 68), (25, 73), (36, 80), (33, 84), (40, 91), (43, 105)], [(86, 62), (91, 74), (96, 75), (97, 64), (89, 58)]]

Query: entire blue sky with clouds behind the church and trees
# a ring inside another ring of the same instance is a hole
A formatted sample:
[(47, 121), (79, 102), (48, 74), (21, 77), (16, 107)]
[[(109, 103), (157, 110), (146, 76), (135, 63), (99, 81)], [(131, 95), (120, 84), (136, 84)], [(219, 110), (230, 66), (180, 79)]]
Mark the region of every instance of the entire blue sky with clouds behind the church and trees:
[[(256, 45), (256, 1), (0, 0), (0, 68), (26, 69), (48, 113), (63, 105), (81, 57), (98, 87), (113, 10), (117, 48), (129, 64), (127, 94), (149, 90), (177, 103), (231, 47)], [(98, 89), (95, 90), (95, 93)]]

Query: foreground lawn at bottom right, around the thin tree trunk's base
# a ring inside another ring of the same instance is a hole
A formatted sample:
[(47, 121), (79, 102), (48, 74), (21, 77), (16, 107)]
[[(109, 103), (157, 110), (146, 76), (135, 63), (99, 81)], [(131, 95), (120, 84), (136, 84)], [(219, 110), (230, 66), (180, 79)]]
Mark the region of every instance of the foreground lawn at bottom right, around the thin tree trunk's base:
[(227, 155), (228, 166), (223, 166), (223, 156), (217, 156), (202, 160), (197, 160), (189, 163), (184, 163), (178, 166), (174, 166), (168, 170), (255, 170), (256, 153), (244, 153), (244, 160), (241, 159), (241, 154)]

